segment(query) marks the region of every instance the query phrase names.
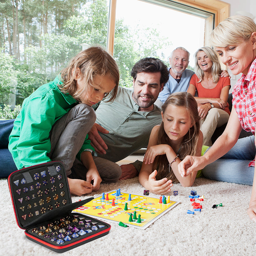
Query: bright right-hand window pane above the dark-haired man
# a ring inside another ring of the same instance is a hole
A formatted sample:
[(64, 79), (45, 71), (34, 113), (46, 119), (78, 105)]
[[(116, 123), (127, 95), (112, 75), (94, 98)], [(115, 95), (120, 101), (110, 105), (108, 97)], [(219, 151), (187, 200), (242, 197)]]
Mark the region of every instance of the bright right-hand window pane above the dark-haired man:
[(212, 31), (212, 13), (168, 1), (117, 0), (114, 58), (121, 69), (120, 83), (131, 86), (129, 72), (141, 58), (156, 57), (169, 66), (170, 53), (178, 46), (191, 52), (193, 68), (193, 53), (205, 44), (205, 21), (209, 17)]

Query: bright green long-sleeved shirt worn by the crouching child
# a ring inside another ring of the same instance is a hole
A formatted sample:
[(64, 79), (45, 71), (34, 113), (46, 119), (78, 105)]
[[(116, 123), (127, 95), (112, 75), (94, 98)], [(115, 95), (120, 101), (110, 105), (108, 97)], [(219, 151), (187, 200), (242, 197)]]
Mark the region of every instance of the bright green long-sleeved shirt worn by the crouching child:
[[(60, 91), (58, 84), (61, 82), (56, 77), (40, 86), (22, 103), (8, 146), (18, 169), (51, 161), (47, 153), (51, 149), (49, 133), (52, 125), (77, 104), (71, 95)], [(80, 158), (86, 149), (94, 150), (88, 134), (77, 157)]]

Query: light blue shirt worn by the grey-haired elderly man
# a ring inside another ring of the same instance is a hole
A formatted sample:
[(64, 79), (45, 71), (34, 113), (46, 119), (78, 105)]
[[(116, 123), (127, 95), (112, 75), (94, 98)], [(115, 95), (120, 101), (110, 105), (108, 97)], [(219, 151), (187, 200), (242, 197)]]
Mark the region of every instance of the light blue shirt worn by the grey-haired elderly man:
[(173, 92), (187, 92), (189, 81), (192, 75), (195, 74), (193, 70), (185, 69), (181, 75), (180, 83), (178, 83), (171, 75), (169, 68), (169, 80), (164, 85), (164, 89), (158, 95), (158, 100), (161, 100), (163, 103), (168, 98), (168, 96)]

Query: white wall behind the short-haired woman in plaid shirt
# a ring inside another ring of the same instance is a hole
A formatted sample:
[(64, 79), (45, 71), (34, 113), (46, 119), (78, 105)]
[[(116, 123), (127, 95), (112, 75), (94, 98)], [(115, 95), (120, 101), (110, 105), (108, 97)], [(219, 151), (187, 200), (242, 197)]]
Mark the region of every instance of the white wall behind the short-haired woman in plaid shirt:
[[(254, 21), (256, 22), (255, 0), (224, 0), (223, 2), (230, 4), (230, 16), (245, 15), (254, 19)], [(232, 75), (230, 70), (228, 70), (228, 73), (231, 75), (231, 89), (229, 91), (231, 92), (233, 86), (236, 84), (236, 81), (241, 77), (241, 75), (234, 76)]]

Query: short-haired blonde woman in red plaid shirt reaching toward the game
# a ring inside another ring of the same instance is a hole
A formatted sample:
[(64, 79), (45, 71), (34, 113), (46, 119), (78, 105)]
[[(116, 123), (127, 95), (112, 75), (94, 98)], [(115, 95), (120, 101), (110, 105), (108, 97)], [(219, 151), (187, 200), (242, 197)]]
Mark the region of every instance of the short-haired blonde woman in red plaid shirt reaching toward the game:
[[(247, 212), (250, 218), (256, 221), (254, 136), (238, 140), (242, 129), (255, 134), (256, 24), (251, 18), (232, 16), (220, 22), (212, 31), (211, 38), (223, 64), (228, 66), (233, 75), (242, 73), (242, 76), (232, 92), (233, 108), (223, 134), (204, 156), (187, 156), (178, 168), (183, 177), (210, 164), (203, 170), (206, 177), (252, 185), (252, 196)], [(220, 157), (222, 158), (215, 161)], [(208, 168), (209, 166), (211, 167)]]

